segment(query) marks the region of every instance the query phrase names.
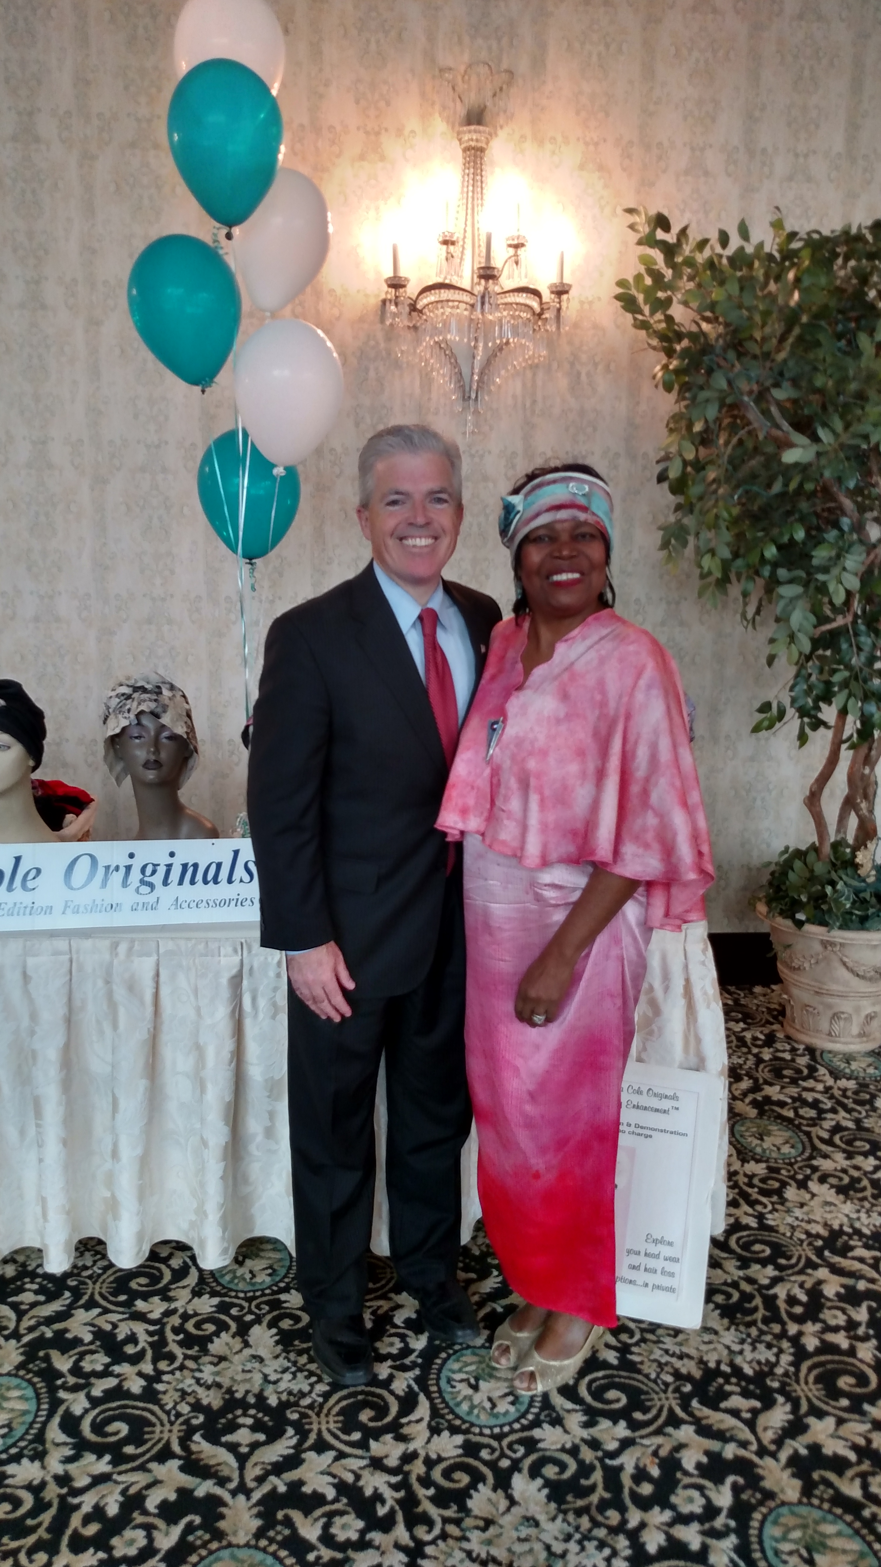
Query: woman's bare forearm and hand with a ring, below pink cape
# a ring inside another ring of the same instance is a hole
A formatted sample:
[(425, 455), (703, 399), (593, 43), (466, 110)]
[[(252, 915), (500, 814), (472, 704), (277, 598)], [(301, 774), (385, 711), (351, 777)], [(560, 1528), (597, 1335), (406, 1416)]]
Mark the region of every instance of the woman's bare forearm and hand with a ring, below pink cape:
[(530, 1028), (553, 1023), (572, 984), (578, 957), (608, 921), (615, 920), (618, 910), (633, 896), (638, 885), (640, 882), (630, 881), (627, 876), (616, 876), (615, 871), (594, 867), (589, 882), (569, 909), (560, 929), (553, 932), (544, 951), (538, 954), (535, 964), (530, 964), (520, 979), (514, 1001), (514, 1012), (520, 1023), (528, 1023)]

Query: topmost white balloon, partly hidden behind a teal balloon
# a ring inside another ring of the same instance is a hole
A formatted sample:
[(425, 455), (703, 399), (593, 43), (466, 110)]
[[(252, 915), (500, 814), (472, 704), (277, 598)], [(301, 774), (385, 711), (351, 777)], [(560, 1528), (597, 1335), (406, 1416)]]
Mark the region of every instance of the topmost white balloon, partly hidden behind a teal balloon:
[(266, 0), (187, 0), (174, 28), (174, 64), (182, 77), (202, 60), (240, 60), (277, 92), (284, 33)]

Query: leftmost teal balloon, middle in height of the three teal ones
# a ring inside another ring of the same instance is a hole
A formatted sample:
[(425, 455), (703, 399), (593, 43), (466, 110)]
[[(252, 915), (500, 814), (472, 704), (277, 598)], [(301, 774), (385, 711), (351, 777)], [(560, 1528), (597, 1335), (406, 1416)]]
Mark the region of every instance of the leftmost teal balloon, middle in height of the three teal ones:
[(204, 240), (166, 233), (129, 274), (129, 310), (150, 354), (193, 387), (210, 387), (232, 353), (241, 295)]

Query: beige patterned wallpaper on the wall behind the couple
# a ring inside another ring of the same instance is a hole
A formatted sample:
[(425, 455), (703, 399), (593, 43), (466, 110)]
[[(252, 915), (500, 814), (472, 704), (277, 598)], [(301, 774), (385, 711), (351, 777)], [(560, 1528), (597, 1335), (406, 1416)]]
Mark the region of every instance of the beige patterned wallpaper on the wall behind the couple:
[[(491, 149), (495, 223), (508, 229), (522, 202), (539, 282), (564, 243), (572, 328), (549, 365), (497, 393), (467, 443), (456, 575), (508, 600), (497, 497), (524, 469), (580, 456), (610, 478), (619, 608), (666, 642), (698, 704), (718, 865), (710, 928), (751, 928), (759, 863), (807, 837), (798, 798), (810, 747), (798, 758), (789, 730), (749, 735), (771, 694), (760, 641), (734, 606), (699, 608), (691, 574), (671, 577), (657, 555), (665, 400), (611, 302), (633, 270), (622, 207), (660, 205), (702, 230), (743, 215), (754, 233), (778, 204), (803, 226), (876, 216), (878, 0), (276, 3), (285, 161), (321, 185), (334, 221), (328, 265), (296, 313), (335, 343), (346, 398), (303, 465), (292, 533), (259, 567), (265, 624), (361, 566), (353, 475), (373, 428), (419, 414), (464, 436), (456, 411), (395, 362), (376, 301), (392, 240), (428, 279), (450, 182), (455, 194), (437, 67), (509, 67), (514, 111)], [(210, 238), (165, 139), (177, 11), (177, 0), (0, 0), (0, 671), (45, 707), (44, 771), (100, 794), (107, 835), (130, 832), (133, 809), (102, 766), (102, 696), (144, 666), (190, 693), (204, 757), (191, 804), (229, 832), (245, 793), (235, 563), (194, 483), (208, 437), (232, 423), (229, 378), (207, 396), (174, 381), (125, 307), (149, 240)]]

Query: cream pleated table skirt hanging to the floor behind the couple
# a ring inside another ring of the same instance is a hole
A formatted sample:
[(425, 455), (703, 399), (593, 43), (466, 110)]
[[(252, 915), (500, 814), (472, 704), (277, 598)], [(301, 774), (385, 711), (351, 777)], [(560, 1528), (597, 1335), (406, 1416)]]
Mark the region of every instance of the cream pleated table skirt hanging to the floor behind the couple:
[[(58, 1272), (86, 1235), (122, 1268), (171, 1238), (204, 1268), (230, 1261), (251, 1235), (293, 1250), (287, 978), (256, 925), (2, 934), (0, 975), (0, 1255), (34, 1246)], [(633, 1053), (726, 1075), (705, 925), (654, 934)], [(384, 1125), (381, 1081), (379, 1172)], [(724, 1152), (723, 1130), (713, 1232)], [(472, 1136), (464, 1238), (480, 1214), (475, 1172)], [(387, 1252), (381, 1174), (373, 1247)]]

